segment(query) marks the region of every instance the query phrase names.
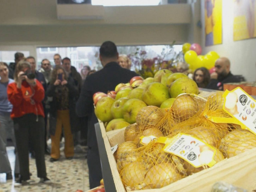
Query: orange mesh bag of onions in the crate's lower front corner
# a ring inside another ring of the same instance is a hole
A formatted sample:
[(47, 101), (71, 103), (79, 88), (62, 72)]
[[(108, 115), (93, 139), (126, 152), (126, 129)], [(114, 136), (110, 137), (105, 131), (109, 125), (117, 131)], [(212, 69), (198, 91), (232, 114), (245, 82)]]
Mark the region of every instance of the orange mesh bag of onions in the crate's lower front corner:
[[(164, 144), (150, 142), (140, 152), (136, 163), (127, 164), (120, 172), (126, 190), (162, 188), (184, 178), (171, 159), (171, 154), (164, 152)], [(134, 183), (130, 179), (138, 174)], [(143, 179), (142, 179), (143, 178)]]

